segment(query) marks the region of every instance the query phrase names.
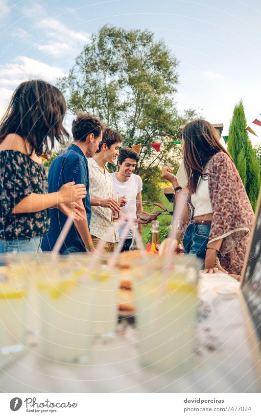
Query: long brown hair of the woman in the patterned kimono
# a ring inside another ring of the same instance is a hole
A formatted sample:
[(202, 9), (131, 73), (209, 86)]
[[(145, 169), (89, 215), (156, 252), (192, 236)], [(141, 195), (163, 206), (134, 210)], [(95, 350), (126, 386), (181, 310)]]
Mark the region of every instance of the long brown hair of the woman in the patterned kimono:
[(231, 156), (219, 143), (214, 126), (206, 120), (197, 119), (186, 124), (182, 136), (184, 165), (191, 195), (196, 192), (199, 177), (204, 176), (204, 168), (213, 155), (224, 152), (230, 158)]

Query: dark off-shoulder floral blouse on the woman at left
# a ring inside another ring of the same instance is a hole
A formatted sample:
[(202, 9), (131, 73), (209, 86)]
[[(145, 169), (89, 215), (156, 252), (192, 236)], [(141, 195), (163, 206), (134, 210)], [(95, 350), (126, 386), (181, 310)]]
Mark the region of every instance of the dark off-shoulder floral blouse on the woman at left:
[(46, 234), (49, 228), (47, 210), (21, 214), (12, 214), (12, 210), (31, 193), (47, 192), (42, 164), (19, 151), (0, 151), (0, 239), (29, 239)]

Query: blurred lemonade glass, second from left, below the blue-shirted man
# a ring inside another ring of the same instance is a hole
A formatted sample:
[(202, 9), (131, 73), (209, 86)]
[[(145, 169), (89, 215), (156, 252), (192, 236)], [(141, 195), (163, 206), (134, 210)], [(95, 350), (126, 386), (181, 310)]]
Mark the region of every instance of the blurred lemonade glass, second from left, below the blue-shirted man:
[(42, 274), (46, 278), (38, 281), (38, 292), (43, 356), (77, 363), (89, 359), (96, 280), (87, 275), (73, 277), (71, 262), (67, 257), (50, 258)]

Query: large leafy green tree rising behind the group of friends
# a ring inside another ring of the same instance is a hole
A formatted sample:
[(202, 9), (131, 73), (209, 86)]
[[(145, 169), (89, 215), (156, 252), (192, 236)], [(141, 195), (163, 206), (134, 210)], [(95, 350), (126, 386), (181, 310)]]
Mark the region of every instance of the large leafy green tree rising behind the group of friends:
[[(95, 114), (121, 133), (124, 145), (142, 144), (136, 172), (145, 179), (153, 167), (177, 164), (180, 146), (169, 142), (180, 139), (180, 125), (195, 117), (193, 110), (177, 111), (177, 66), (152, 32), (105, 25), (58, 86), (73, 113)], [(151, 142), (162, 142), (158, 153)]]

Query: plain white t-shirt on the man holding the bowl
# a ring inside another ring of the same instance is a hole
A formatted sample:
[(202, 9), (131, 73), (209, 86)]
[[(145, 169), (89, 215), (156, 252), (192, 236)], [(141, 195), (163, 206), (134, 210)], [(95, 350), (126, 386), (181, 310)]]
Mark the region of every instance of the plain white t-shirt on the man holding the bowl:
[[(131, 216), (133, 219), (137, 219), (137, 194), (142, 191), (142, 179), (139, 175), (132, 174), (128, 181), (125, 182), (119, 182), (116, 178), (116, 172), (113, 172), (113, 188), (114, 191), (119, 192), (119, 197), (122, 195), (126, 196), (127, 204), (124, 207), (121, 207), (120, 211), (122, 213), (127, 214), (128, 216)], [(122, 234), (122, 230), (124, 228), (124, 225), (119, 228), (119, 236)], [(132, 230), (129, 230), (127, 236), (127, 239), (132, 238)]]

